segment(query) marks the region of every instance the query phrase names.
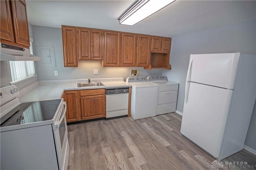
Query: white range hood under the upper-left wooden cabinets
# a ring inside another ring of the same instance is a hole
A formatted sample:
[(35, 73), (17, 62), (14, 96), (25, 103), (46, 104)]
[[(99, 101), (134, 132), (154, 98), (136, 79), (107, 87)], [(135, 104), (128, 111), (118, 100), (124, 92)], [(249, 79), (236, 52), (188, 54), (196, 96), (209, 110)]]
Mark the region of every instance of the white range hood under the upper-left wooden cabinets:
[(30, 53), (30, 49), (16, 47), (1, 43), (0, 45), (0, 61), (40, 61), (41, 57), (37, 57)]

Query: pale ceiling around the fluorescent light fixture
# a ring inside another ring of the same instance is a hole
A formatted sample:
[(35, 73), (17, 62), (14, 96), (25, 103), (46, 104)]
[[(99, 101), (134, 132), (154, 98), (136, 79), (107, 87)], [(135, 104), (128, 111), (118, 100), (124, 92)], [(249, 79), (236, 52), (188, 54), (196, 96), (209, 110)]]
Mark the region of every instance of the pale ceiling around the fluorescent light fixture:
[(28, 22), (174, 37), (256, 18), (256, 1), (176, 0), (162, 10), (126, 26), (117, 18), (134, 0), (27, 0)]

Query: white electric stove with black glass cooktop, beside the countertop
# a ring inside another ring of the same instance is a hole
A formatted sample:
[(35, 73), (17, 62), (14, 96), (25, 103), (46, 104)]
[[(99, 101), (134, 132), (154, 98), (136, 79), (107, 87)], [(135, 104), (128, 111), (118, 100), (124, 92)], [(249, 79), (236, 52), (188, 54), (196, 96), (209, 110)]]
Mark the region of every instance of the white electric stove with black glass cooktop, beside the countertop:
[(14, 85), (0, 89), (1, 169), (66, 170), (66, 102), (20, 103), (18, 96)]

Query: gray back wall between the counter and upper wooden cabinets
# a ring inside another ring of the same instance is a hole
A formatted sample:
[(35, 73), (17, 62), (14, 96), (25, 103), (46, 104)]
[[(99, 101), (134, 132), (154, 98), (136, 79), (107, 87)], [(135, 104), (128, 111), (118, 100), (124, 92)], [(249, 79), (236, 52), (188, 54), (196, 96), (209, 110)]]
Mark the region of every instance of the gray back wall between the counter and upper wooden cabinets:
[[(100, 61), (78, 61), (78, 67), (64, 67), (62, 31), (60, 28), (32, 26), (35, 54), (40, 55), (36, 50), (37, 46), (54, 47), (56, 67), (44, 66), (42, 61), (36, 61), (38, 80), (63, 80), (63, 79), (87, 79), (87, 78), (114, 78), (130, 76), (129, 67), (102, 67)], [(99, 74), (93, 75), (93, 69), (98, 69)], [(161, 69), (146, 70), (137, 67), (139, 75), (162, 75)], [(54, 76), (58, 71), (59, 76)]]

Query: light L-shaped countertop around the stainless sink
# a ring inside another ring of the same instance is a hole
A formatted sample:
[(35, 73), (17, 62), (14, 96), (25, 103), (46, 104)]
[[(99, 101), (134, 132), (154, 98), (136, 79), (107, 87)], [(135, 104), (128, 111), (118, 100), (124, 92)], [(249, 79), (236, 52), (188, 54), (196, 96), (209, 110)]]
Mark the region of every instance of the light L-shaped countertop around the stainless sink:
[[(100, 81), (99, 81), (100, 80)], [(91, 79), (91, 82), (102, 82), (104, 86), (77, 87), (77, 83), (87, 82), (84, 80), (65, 81), (37, 81), (32, 85), (20, 90), (20, 102), (42, 101), (59, 99), (64, 91), (84, 89), (106, 89), (115, 87), (130, 87), (123, 78), (117, 79)]]

